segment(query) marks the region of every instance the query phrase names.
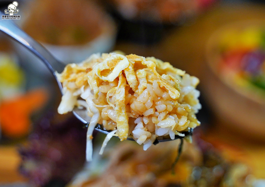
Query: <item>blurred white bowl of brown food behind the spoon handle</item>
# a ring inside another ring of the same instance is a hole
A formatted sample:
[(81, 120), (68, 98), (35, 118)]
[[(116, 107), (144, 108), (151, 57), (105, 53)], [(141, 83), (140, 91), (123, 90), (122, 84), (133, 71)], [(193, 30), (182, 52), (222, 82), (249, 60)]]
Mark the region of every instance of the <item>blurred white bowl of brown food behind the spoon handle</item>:
[[(55, 7), (60, 3), (63, 12)], [(77, 11), (81, 5), (83, 11)], [(34, 7), (33, 11), (29, 12), (29, 7)], [(65, 64), (79, 63), (93, 53), (110, 52), (115, 44), (115, 22), (90, 1), (34, 1), (21, 7), (20, 12), (23, 19), (16, 24)], [(46, 66), (27, 49), (19, 44), (15, 48), (27, 69), (50, 75)]]

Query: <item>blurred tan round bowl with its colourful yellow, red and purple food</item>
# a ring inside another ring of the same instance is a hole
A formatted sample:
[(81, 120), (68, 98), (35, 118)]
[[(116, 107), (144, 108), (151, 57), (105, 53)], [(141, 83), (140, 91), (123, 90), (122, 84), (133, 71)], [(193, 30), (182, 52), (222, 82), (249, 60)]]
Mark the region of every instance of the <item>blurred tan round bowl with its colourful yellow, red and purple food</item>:
[(206, 46), (205, 79), (207, 100), (219, 118), (233, 130), (262, 140), (265, 89), (253, 80), (264, 76), (264, 31), (265, 20), (249, 20), (214, 32)]

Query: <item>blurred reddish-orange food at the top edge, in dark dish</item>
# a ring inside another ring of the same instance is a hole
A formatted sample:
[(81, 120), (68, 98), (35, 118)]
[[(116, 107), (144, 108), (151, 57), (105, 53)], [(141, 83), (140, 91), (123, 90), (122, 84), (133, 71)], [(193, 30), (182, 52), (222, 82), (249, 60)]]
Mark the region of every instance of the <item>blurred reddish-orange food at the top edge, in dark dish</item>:
[(175, 24), (197, 15), (215, 0), (106, 0), (126, 19)]

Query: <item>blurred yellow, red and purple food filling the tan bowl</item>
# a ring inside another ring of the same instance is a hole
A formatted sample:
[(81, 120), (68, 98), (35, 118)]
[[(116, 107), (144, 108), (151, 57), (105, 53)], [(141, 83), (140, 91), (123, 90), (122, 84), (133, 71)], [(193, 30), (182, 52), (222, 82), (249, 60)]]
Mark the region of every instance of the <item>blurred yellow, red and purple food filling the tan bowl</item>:
[(226, 29), (218, 40), (221, 52), (218, 71), (223, 79), (261, 98), (264, 103), (265, 26), (253, 24)]

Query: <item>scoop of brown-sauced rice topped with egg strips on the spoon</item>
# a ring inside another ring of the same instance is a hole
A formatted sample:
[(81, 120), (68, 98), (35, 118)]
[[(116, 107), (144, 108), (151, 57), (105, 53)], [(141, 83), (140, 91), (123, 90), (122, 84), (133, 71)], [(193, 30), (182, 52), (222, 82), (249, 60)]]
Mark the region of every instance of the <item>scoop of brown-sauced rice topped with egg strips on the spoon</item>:
[(58, 112), (85, 107), (92, 117), (90, 140), (99, 123), (117, 130), (121, 141), (132, 136), (146, 150), (158, 136), (174, 139), (200, 125), (199, 79), (154, 57), (93, 54), (80, 64), (68, 64), (58, 78), (64, 88)]

